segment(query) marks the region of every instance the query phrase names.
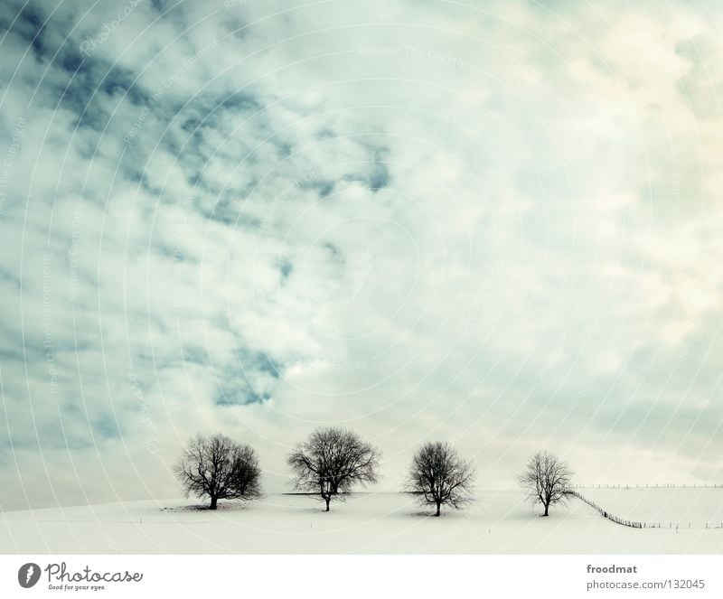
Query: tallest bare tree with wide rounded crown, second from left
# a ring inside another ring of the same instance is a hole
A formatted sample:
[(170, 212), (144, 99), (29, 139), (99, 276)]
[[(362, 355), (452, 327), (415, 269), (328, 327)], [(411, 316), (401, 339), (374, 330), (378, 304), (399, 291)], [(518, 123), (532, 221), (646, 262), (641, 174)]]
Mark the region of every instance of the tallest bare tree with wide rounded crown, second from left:
[(377, 482), (380, 451), (343, 428), (317, 428), (288, 455), (299, 491), (318, 493), (329, 503), (356, 483)]

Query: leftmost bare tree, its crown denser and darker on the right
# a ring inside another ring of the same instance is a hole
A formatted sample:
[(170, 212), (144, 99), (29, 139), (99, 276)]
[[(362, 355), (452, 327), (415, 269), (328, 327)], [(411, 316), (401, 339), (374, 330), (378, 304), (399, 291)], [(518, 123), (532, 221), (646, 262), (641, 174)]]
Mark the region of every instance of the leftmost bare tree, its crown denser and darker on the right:
[(256, 452), (225, 435), (196, 435), (174, 466), (186, 497), (208, 497), (211, 510), (220, 499), (256, 499), (261, 495), (261, 469)]

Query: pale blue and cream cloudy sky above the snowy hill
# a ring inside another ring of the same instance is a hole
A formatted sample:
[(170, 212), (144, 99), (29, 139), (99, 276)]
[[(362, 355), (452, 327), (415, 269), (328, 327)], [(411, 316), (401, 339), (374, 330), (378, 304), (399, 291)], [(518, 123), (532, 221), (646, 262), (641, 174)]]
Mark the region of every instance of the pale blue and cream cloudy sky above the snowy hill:
[(315, 426), (723, 482), (722, 9), (5, 1), (0, 510)]

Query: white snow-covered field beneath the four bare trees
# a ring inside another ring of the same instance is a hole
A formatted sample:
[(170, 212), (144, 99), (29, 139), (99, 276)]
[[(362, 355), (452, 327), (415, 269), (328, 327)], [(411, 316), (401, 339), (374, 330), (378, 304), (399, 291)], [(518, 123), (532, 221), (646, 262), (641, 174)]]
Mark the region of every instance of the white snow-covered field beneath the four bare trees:
[[(681, 512), (681, 501), (648, 493), (590, 491), (624, 517)], [(665, 490), (672, 492), (676, 490)], [(695, 491), (695, 490), (690, 490)], [(720, 513), (723, 489), (706, 510)], [(675, 493), (673, 497), (677, 497)], [(702, 493), (701, 493), (702, 497)], [(628, 501), (627, 503), (625, 501)], [(700, 500), (702, 501), (702, 500)], [(708, 501), (708, 499), (706, 499)], [(359, 493), (324, 513), (307, 496), (192, 509), (192, 501), (134, 501), (0, 513), (1, 553), (721, 553), (723, 529), (628, 529), (573, 499), (540, 518), (520, 491), (487, 491), (466, 510), (429, 517), (399, 493)], [(697, 504), (699, 505), (699, 504)], [(703, 505), (703, 503), (700, 503)], [(667, 506), (667, 507), (665, 507)], [(625, 510), (630, 510), (627, 514)], [(690, 515), (692, 518), (692, 515)], [(700, 515), (698, 520), (703, 519)]]

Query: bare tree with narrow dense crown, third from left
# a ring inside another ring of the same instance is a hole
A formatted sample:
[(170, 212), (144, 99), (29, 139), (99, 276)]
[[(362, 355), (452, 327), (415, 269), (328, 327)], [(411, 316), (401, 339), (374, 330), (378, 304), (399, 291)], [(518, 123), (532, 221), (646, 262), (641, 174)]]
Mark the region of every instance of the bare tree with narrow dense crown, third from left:
[(426, 443), (412, 458), (407, 489), (418, 493), (423, 503), (436, 505), (439, 516), (443, 505), (459, 509), (472, 501), (474, 466), (463, 460), (448, 443)]

